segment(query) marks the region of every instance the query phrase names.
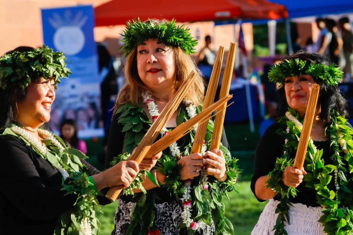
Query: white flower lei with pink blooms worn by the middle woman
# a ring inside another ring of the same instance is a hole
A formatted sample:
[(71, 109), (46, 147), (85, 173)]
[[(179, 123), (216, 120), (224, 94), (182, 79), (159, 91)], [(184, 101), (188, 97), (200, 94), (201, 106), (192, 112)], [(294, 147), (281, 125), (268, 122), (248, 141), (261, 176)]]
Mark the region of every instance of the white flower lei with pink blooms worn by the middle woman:
[[(157, 119), (157, 117), (160, 115), (159, 110), (157, 109), (157, 105), (149, 93), (146, 93), (146, 92), (142, 93), (142, 98), (143, 98), (143, 103), (148, 107), (148, 112), (152, 117), (152, 122), (154, 122)], [(186, 106), (187, 115), (189, 116), (189, 118), (195, 117), (197, 114), (196, 105), (194, 105), (191, 100), (184, 99), (184, 102)], [(194, 125), (195, 131), (197, 130), (197, 125), (198, 124)], [(166, 126), (164, 126), (161, 131), (161, 135), (165, 136), (168, 134), (169, 134), (169, 131), (166, 128)], [(172, 153), (173, 157), (177, 157), (177, 158), (183, 157), (180, 153), (180, 149), (177, 142), (170, 144), (169, 150)], [(206, 151), (207, 151), (207, 146), (205, 144), (205, 141), (203, 141), (201, 155), (204, 155)], [(208, 177), (205, 172), (205, 167), (202, 167), (200, 174), (201, 174), (200, 184), (202, 184), (202, 187), (205, 190), (208, 190), (208, 181), (207, 181)], [(184, 207), (183, 212), (181, 213), (181, 219), (183, 223), (186, 225), (186, 227), (190, 227), (193, 230), (200, 231), (201, 229), (206, 227), (206, 224), (202, 221), (202, 219), (200, 219), (198, 222), (192, 220), (191, 218), (192, 203), (191, 203), (190, 192), (191, 192), (191, 180), (186, 180), (184, 184), (184, 194), (183, 194), (183, 197), (181, 198), (181, 201)]]

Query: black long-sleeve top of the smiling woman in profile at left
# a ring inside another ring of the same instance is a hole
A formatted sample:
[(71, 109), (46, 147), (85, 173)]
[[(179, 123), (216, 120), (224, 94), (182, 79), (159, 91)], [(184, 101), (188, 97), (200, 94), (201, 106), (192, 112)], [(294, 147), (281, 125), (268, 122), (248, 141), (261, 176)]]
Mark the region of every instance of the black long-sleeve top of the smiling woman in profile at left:
[[(61, 173), (16, 136), (0, 135), (0, 149), (0, 234), (54, 234), (77, 196), (64, 196)], [(91, 175), (99, 173), (83, 163)], [(103, 196), (98, 201), (109, 203)]]

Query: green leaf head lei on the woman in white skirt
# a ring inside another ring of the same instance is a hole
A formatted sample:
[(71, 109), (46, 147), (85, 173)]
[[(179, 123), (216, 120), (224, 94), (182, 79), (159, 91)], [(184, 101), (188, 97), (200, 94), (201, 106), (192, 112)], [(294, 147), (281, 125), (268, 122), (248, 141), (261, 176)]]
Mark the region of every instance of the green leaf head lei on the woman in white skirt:
[(273, 66), (268, 73), (268, 78), (271, 82), (284, 84), (288, 77), (306, 74), (330, 86), (337, 86), (343, 76), (340, 67), (335, 64), (326, 66), (295, 58)]

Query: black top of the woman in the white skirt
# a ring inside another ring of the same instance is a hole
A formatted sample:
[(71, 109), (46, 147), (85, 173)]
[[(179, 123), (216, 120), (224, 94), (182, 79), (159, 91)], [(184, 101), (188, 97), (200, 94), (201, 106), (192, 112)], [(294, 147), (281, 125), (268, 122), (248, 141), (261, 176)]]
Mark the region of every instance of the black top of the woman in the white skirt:
[[(283, 144), (285, 139), (276, 133), (280, 128), (280, 124), (275, 123), (268, 127), (262, 136), (255, 153), (255, 169), (254, 175), (251, 178), (251, 190), (259, 202), (264, 202), (264, 200), (259, 199), (255, 194), (255, 183), (258, 178), (268, 175), (269, 172), (273, 171), (277, 157), (283, 154)], [(333, 152), (330, 150), (330, 141), (314, 141), (317, 149), (323, 149), (322, 158), (326, 164), (332, 164), (333, 160), (331, 156)], [(295, 151), (293, 151), (295, 157)], [(331, 182), (333, 183), (333, 181)], [(297, 196), (295, 198), (289, 197), (291, 203), (301, 203), (307, 206), (320, 206), (316, 200), (316, 192), (314, 189), (305, 187), (306, 182), (303, 181), (298, 187)], [(275, 200), (280, 200), (280, 196), (276, 195)]]

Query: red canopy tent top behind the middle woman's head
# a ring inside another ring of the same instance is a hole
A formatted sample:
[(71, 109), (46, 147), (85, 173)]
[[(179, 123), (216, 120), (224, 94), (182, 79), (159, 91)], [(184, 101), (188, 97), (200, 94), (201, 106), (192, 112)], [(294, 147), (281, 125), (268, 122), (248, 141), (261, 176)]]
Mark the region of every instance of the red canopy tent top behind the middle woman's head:
[(286, 18), (284, 6), (267, 0), (112, 0), (95, 8), (96, 26), (124, 25), (139, 17), (168, 19), (178, 22), (224, 19), (278, 19)]

